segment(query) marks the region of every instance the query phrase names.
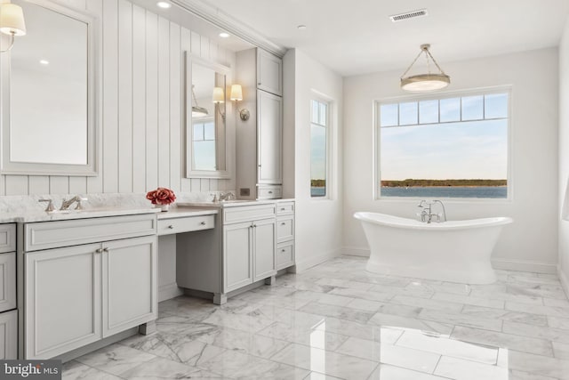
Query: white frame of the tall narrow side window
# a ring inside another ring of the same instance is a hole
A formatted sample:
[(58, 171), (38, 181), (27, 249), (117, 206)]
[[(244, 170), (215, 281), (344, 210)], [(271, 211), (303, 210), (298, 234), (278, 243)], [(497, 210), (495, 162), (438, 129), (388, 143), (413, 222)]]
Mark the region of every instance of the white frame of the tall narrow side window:
[(311, 192), (311, 183), (309, 183), (309, 198), (310, 200), (322, 201), (333, 199), (333, 99), (325, 96), (322, 93), (312, 91), (309, 101), (309, 182), (312, 181), (312, 101), (318, 101), (326, 105), (326, 158), (325, 158), (325, 196), (313, 197)]

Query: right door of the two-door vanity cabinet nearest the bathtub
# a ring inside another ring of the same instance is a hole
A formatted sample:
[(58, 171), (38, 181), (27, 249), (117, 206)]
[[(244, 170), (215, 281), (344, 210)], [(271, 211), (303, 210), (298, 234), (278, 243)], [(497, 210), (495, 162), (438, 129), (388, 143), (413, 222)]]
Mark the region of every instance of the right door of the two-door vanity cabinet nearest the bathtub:
[(275, 219), (253, 222), (254, 281), (266, 279), (276, 273)]

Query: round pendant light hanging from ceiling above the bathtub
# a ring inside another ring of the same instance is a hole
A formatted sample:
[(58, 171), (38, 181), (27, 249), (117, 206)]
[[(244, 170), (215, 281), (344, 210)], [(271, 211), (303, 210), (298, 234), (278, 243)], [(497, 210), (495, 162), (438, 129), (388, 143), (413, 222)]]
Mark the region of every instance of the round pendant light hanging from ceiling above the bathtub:
[[(437, 61), (433, 58), (429, 52), (430, 44), (421, 44), (421, 52), (415, 57), (414, 61), (411, 63), (409, 68), (405, 70), (405, 73), (401, 76), (401, 89), (408, 91), (410, 93), (429, 93), (430, 91), (437, 91), (445, 88), (451, 83), (451, 77), (447, 76), (443, 69), (438, 66)], [(419, 74), (410, 77), (405, 77), (409, 72), (415, 62), (419, 59), (421, 54), (425, 54), (427, 59), (427, 73)], [(435, 66), (437, 66), (438, 73), (433, 74), (430, 72), (430, 61), (433, 61)]]

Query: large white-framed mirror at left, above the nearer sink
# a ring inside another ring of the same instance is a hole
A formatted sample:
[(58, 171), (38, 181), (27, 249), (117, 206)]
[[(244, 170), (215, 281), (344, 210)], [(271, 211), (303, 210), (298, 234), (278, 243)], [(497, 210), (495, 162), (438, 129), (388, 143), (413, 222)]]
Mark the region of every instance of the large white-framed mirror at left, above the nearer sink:
[(0, 55), (2, 174), (96, 175), (94, 22), (47, 0), (12, 0), (27, 35)]

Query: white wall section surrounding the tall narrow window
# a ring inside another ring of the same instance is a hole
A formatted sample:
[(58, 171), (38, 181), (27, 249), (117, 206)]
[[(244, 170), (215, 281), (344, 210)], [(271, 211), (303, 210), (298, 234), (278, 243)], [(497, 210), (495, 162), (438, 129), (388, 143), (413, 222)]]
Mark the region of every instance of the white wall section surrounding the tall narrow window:
[[(302, 270), (341, 253), (342, 78), (298, 49), (284, 56), (284, 73), (284, 179), (290, 183), (294, 176), (296, 263), (297, 270)], [(310, 100), (314, 92), (332, 103), (330, 199), (310, 198)], [(290, 189), (284, 191), (285, 196), (292, 195)]]

